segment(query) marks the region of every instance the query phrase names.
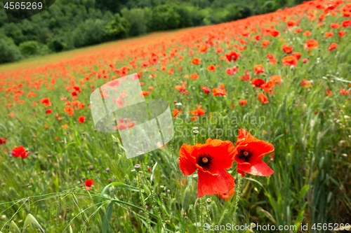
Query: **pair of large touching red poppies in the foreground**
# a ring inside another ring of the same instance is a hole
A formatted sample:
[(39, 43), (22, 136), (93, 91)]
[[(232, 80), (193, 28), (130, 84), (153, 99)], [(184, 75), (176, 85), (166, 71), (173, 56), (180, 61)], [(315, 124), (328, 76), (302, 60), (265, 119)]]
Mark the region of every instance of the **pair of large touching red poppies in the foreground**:
[(230, 141), (207, 139), (206, 143), (194, 146), (183, 144), (179, 151), (179, 167), (185, 176), (198, 169), (197, 197), (233, 192), (234, 177), (225, 169), (237, 162), (237, 172), (255, 176), (270, 176), (272, 169), (262, 157), (271, 153), (274, 146), (260, 141), (245, 129), (240, 129), (236, 146)]

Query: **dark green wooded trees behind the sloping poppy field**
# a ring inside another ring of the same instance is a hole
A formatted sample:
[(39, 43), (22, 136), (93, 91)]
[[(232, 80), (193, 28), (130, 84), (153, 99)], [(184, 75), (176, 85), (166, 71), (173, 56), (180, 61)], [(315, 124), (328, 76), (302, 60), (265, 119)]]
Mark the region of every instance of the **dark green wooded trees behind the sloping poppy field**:
[(0, 64), (152, 31), (239, 20), (302, 0), (56, 0), (37, 15), (8, 23), (0, 2)]

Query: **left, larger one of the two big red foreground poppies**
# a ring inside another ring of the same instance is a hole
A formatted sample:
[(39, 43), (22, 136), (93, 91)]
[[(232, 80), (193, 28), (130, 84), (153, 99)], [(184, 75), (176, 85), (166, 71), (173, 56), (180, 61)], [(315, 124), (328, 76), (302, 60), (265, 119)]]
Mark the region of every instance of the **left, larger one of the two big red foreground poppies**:
[(190, 176), (199, 169), (197, 197), (227, 193), (235, 187), (234, 177), (225, 170), (232, 167), (234, 152), (232, 142), (219, 139), (180, 147), (179, 167), (183, 174)]

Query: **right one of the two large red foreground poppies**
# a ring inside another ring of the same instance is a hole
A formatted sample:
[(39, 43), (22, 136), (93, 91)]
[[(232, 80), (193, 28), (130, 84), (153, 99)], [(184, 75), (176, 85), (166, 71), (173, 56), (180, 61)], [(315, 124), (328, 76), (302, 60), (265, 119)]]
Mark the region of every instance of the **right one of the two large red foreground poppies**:
[(237, 172), (254, 176), (270, 176), (274, 173), (261, 158), (274, 151), (271, 143), (261, 141), (245, 129), (239, 130), (234, 160), (237, 162)]

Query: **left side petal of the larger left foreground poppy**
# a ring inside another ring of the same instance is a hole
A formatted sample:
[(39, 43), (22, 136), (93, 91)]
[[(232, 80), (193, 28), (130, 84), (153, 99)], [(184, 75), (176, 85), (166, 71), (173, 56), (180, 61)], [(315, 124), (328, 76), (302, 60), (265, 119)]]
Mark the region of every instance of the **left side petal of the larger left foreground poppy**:
[(197, 167), (195, 166), (196, 160), (192, 155), (192, 145), (183, 144), (179, 150), (179, 167), (182, 170), (183, 175), (190, 176), (196, 171)]

